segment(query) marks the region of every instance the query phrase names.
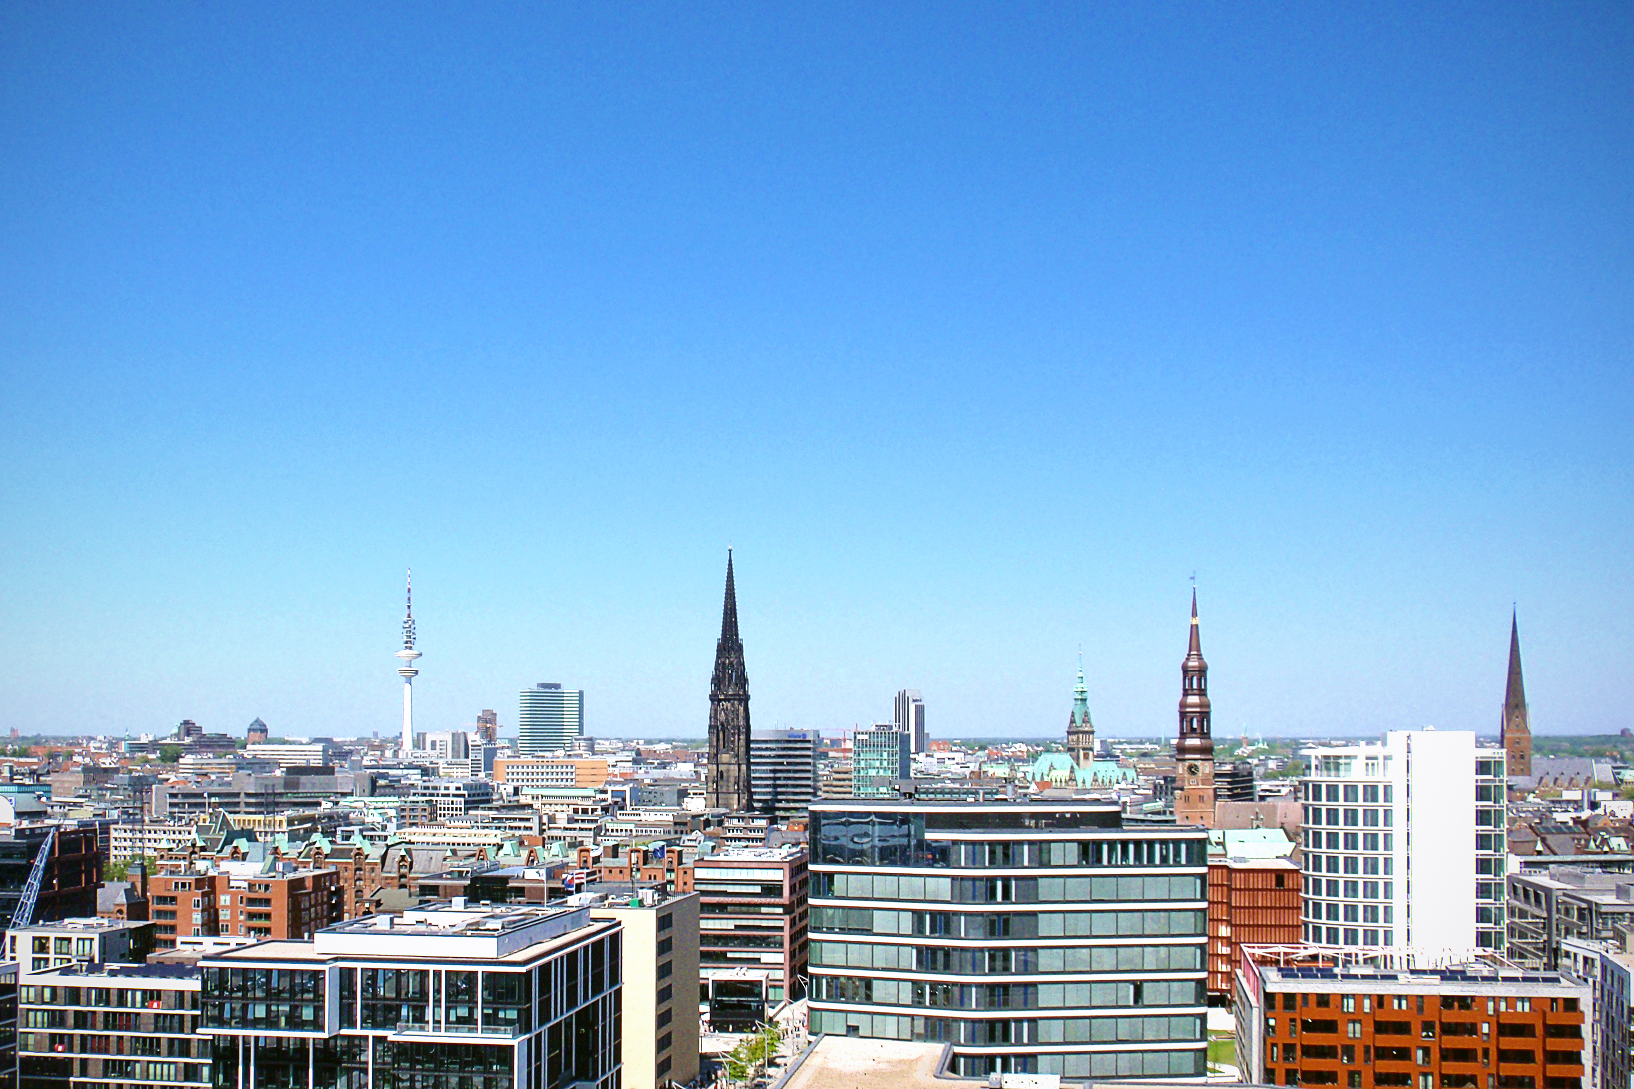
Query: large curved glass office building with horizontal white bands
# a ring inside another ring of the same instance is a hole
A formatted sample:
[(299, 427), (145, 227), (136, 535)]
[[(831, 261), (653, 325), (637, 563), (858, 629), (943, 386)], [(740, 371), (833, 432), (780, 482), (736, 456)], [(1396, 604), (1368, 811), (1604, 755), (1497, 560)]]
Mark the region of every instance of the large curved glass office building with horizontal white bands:
[(1204, 1074), (1208, 833), (1116, 803), (819, 802), (810, 1030), (949, 1073)]

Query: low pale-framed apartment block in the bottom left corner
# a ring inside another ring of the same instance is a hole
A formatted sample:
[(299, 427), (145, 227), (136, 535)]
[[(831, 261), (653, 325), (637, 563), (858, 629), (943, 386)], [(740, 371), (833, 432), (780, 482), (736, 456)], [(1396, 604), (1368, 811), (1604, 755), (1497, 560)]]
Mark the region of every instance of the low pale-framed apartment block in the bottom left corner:
[(211, 1084), (191, 965), (75, 965), (26, 975), (16, 991), (23, 1089)]

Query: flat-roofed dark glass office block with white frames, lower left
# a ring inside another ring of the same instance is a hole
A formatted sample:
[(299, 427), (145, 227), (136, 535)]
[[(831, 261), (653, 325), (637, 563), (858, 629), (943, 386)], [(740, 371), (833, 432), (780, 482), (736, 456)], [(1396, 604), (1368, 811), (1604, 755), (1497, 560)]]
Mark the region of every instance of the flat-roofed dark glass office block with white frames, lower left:
[(618, 1089), (621, 927), (462, 898), (206, 957), (219, 1089)]

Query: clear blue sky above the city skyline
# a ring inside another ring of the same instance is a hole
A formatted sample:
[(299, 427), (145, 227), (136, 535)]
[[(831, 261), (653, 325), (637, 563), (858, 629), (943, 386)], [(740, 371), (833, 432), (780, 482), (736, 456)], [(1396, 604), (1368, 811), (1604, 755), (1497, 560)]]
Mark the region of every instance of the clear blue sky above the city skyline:
[(1634, 7), (0, 8), (0, 730), (1629, 710)]

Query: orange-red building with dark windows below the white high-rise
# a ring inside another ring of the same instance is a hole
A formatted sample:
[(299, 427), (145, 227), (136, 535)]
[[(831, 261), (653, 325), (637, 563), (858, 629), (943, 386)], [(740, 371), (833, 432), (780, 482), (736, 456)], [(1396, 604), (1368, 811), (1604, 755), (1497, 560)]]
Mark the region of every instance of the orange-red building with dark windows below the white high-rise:
[(1402, 952), (1245, 949), (1237, 981), (1242, 1079), (1346, 1089), (1587, 1089), (1588, 983), (1487, 963), (1338, 963)]

